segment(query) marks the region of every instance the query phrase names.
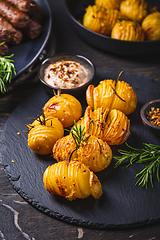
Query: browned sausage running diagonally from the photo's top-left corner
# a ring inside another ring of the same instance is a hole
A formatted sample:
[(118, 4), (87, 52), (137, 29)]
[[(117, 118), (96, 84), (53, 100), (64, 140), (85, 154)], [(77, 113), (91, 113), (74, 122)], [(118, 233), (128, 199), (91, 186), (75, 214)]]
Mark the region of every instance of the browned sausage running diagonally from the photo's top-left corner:
[(0, 0), (0, 15), (18, 29), (25, 28), (29, 24), (29, 17), (25, 13), (4, 0)]

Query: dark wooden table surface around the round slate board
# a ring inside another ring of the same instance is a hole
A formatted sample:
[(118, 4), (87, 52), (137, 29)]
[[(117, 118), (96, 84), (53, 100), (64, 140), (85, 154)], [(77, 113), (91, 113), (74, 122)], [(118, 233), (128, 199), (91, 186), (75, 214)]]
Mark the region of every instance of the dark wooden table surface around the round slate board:
[[(84, 42), (73, 30), (65, 11), (64, 0), (48, 0), (53, 17), (52, 33), (56, 53), (70, 52), (88, 57), (96, 69), (124, 70), (160, 80), (159, 54), (146, 56), (117, 56), (103, 52)], [(0, 96), (0, 136), (12, 111), (38, 86), (37, 75), (29, 81)], [(107, 239), (153, 240), (160, 239), (160, 222), (139, 228), (121, 230), (96, 230), (66, 224), (38, 211), (10, 185), (2, 166), (0, 155), (0, 239)]]

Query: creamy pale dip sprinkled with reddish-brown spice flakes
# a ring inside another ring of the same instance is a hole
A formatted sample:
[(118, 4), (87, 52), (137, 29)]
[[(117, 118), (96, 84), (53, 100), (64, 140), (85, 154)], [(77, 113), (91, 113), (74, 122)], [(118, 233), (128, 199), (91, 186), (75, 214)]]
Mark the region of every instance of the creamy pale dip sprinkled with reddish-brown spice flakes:
[(62, 60), (46, 68), (44, 81), (60, 89), (76, 88), (89, 81), (89, 74), (80, 63)]

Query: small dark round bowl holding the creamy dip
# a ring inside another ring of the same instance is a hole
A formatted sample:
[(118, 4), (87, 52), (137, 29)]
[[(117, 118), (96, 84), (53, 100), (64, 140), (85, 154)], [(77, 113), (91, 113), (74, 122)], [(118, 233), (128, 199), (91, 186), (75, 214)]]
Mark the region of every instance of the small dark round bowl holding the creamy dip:
[(74, 61), (77, 63), (80, 63), (88, 72), (88, 76), (89, 79), (88, 81), (79, 86), (79, 87), (75, 87), (75, 88), (61, 88), (60, 91), (61, 93), (67, 93), (67, 94), (71, 94), (74, 96), (78, 96), (81, 95), (83, 93), (85, 93), (88, 85), (90, 85), (95, 77), (95, 67), (94, 64), (86, 57), (81, 56), (81, 55), (72, 55), (72, 54), (66, 54), (66, 53), (61, 53), (58, 55), (55, 55), (51, 58), (48, 58), (46, 60), (44, 60), (38, 70), (38, 77), (42, 83), (42, 85), (44, 86), (45, 90), (49, 93), (51, 93), (53, 95), (53, 92), (55, 90), (55, 92), (57, 92), (58, 88), (54, 87), (52, 85), (49, 85), (45, 80), (44, 80), (44, 73), (45, 73), (45, 69), (52, 63), (56, 63), (59, 61)]

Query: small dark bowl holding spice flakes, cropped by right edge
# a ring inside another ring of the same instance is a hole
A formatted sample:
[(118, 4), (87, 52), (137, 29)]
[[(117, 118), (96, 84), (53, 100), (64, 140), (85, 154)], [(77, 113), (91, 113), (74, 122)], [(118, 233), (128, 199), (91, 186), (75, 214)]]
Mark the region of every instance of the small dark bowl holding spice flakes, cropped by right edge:
[(152, 124), (148, 119), (147, 119), (147, 113), (151, 110), (151, 108), (159, 108), (160, 109), (160, 99), (152, 100), (148, 103), (146, 103), (140, 111), (140, 116), (142, 119), (143, 124), (148, 127), (155, 135), (160, 136), (160, 127)]

